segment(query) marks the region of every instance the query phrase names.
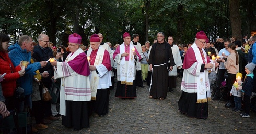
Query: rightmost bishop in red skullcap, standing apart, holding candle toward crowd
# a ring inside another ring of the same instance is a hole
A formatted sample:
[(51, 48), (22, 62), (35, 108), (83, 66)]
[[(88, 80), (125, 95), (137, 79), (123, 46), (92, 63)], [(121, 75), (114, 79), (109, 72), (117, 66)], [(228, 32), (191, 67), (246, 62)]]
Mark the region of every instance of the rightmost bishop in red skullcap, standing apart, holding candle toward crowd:
[(179, 110), (182, 114), (199, 119), (208, 118), (208, 101), (210, 101), (210, 84), (207, 69), (216, 68), (218, 63), (202, 49), (207, 39), (204, 31), (197, 32), (195, 43), (188, 49), (183, 62), (181, 81), (182, 94), (179, 99)]

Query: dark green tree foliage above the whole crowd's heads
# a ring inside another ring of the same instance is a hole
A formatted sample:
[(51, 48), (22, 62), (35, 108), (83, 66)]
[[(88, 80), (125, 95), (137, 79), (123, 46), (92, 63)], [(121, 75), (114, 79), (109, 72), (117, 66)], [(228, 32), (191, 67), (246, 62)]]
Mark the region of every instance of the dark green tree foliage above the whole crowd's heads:
[[(112, 44), (122, 43), (124, 32), (141, 35), (141, 44), (153, 42), (159, 31), (166, 39), (173, 36), (176, 43), (194, 41), (200, 30), (210, 41), (234, 36), (229, 1), (224, 0), (1, 0), (0, 4), (0, 32), (12, 41), (23, 34), (36, 40), (46, 33), (54, 44), (66, 46), (68, 35), (74, 32), (82, 35), (84, 45), (93, 33), (102, 33), (103, 41)], [(254, 30), (255, 6), (252, 0), (241, 0), (235, 13), (241, 18), (240, 34)]]

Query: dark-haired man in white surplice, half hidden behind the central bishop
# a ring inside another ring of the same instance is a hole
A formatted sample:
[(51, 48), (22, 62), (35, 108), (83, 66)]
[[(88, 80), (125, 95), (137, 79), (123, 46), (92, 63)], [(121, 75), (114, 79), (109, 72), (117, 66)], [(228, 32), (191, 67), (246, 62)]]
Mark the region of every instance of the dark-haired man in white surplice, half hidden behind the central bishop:
[[(142, 45), (138, 41), (139, 41), (139, 35), (138, 34), (134, 34), (133, 35), (133, 40), (131, 41), (130, 44), (135, 46), (139, 53), (142, 53)], [(142, 56), (141, 59), (142, 58), (145, 58), (145, 57)], [(143, 86), (143, 81), (142, 81), (141, 63), (140, 62), (139, 63), (135, 62), (135, 65), (136, 65), (136, 78), (135, 78), (136, 86), (144, 87)]]

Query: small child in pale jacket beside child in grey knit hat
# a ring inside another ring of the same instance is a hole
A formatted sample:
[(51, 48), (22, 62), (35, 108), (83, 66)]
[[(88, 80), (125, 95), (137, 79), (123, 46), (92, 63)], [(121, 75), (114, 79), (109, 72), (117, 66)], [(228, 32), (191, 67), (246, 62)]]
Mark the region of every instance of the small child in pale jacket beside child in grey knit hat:
[[(240, 76), (242, 78), (241, 73), (237, 73), (236, 77)], [(242, 106), (242, 81), (237, 80), (238, 87), (232, 86), (232, 89), (230, 91), (230, 96), (234, 96), (234, 102), (235, 102), (235, 108), (233, 109), (236, 112), (241, 112), (241, 106)]]

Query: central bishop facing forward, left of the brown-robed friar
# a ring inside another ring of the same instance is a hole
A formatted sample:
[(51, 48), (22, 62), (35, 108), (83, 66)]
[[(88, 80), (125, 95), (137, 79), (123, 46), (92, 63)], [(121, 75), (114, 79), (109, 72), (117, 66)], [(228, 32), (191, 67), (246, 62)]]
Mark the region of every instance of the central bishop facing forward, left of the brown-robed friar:
[(137, 97), (135, 73), (135, 62), (139, 63), (141, 55), (136, 47), (130, 44), (131, 36), (125, 32), (123, 34), (123, 44), (117, 47), (114, 51), (113, 59), (117, 62), (117, 90), (115, 97), (134, 99)]

